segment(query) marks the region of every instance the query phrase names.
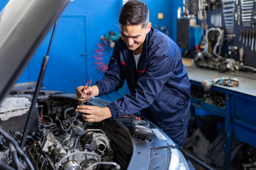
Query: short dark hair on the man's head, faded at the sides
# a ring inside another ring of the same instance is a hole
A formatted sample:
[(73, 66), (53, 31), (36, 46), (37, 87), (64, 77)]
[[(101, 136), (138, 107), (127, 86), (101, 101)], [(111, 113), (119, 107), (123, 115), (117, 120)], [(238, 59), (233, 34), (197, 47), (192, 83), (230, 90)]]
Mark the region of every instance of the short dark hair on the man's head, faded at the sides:
[(146, 27), (149, 22), (148, 6), (139, 0), (130, 0), (123, 5), (118, 21), (121, 25), (142, 24)]

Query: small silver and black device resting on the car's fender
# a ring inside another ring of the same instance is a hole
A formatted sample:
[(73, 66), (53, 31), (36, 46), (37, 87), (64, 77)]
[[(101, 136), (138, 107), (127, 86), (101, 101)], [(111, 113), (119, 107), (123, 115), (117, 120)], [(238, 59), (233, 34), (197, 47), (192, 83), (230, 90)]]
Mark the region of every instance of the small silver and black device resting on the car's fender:
[(135, 117), (131, 121), (133, 128), (133, 137), (150, 138), (153, 135), (153, 130), (150, 129), (149, 122), (140, 120), (140, 117)]

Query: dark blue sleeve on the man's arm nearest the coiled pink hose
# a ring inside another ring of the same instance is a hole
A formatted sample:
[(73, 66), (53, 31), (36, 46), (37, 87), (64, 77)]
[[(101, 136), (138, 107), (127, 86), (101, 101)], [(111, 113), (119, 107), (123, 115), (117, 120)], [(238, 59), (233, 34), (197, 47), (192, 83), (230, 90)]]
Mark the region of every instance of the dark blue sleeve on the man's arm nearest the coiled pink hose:
[(98, 96), (117, 91), (119, 88), (123, 87), (124, 80), (125, 77), (121, 70), (118, 45), (115, 45), (108, 64), (108, 70), (105, 72), (104, 77), (95, 83), (99, 88)]

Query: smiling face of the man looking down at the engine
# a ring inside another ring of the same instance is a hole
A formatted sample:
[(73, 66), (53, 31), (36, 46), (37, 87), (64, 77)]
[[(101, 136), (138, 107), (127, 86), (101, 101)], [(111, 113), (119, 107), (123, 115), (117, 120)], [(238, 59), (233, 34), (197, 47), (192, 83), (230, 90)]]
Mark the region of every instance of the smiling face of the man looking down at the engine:
[(121, 38), (127, 45), (129, 50), (136, 50), (143, 44), (147, 33), (151, 29), (151, 23), (148, 23), (147, 27), (142, 27), (142, 25), (121, 25), (120, 32)]

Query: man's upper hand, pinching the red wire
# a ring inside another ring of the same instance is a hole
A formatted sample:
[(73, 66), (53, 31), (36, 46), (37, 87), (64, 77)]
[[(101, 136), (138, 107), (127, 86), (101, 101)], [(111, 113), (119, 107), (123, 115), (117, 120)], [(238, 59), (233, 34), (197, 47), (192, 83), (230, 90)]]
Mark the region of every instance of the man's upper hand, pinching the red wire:
[(89, 90), (89, 98), (92, 96), (97, 96), (99, 94), (99, 88), (97, 87), (97, 85), (93, 85), (90, 88), (87, 87), (84, 90), (84, 95), (82, 96), (83, 90), (84, 90), (84, 86), (78, 86), (76, 88), (77, 101), (82, 102), (82, 103), (84, 103), (87, 100), (88, 90)]

